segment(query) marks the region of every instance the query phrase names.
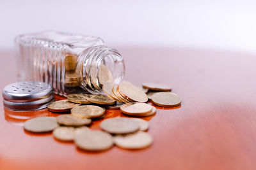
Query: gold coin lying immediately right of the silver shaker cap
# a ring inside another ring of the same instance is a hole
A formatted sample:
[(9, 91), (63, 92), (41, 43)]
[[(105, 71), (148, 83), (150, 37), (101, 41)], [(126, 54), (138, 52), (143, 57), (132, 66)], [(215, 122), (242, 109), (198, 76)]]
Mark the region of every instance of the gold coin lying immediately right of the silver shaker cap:
[(70, 111), (75, 106), (79, 106), (77, 103), (70, 103), (68, 100), (54, 101), (48, 104), (47, 108), (53, 112), (65, 112)]

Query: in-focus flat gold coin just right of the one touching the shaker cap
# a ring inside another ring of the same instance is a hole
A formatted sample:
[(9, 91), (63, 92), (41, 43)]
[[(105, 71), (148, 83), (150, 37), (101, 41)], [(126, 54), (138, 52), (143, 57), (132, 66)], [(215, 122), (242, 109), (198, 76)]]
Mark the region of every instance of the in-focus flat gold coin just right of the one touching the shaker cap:
[(106, 110), (99, 106), (85, 105), (72, 108), (71, 115), (78, 118), (95, 118), (104, 115)]

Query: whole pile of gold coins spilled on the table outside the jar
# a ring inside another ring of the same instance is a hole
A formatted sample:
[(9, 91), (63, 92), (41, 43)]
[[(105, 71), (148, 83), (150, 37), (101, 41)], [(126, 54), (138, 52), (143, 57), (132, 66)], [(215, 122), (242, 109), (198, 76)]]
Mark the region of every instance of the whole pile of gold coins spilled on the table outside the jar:
[[(103, 81), (103, 80), (102, 80)], [(144, 131), (148, 122), (141, 118), (108, 118), (100, 124), (102, 131), (89, 127), (95, 118), (104, 118), (106, 109), (120, 110), (129, 117), (149, 117), (156, 114), (157, 106), (172, 107), (181, 103), (180, 97), (170, 92), (168, 85), (143, 83), (143, 88), (122, 81), (119, 85), (103, 84), (103, 94), (69, 94), (67, 99), (49, 104), (48, 110), (63, 114), (58, 117), (39, 117), (28, 120), (24, 129), (29, 132), (52, 132), (61, 141), (74, 141), (78, 148), (102, 151), (113, 145), (126, 149), (145, 148), (152, 137)], [(147, 93), (147, 94), (146, 94)]]

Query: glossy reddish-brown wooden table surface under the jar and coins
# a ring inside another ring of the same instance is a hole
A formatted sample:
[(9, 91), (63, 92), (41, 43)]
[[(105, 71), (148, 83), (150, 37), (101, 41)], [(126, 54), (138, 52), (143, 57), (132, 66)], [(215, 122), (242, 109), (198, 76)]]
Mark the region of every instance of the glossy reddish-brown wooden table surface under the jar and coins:
[[(256, 56), (183, 48), (118, 48), (126, 76), (172, 85), (182, 98), (175, 108), (157, 107), (150, 124), (152, 146), (114, 146), (84, 152), (52, 134), (31, 134), (33, 117), (57, 116), (46, 109), (15, 112), (0, 103), (0, 169), (256, 169)], [(0, 88), (17, 81), (12, 52), (0, 52)], [(61, 97), (56, 97), (60, 99)], [(108, 111), (107, 117), (125, 117)], [(100, 121), (92, 129), (99, 129)]]

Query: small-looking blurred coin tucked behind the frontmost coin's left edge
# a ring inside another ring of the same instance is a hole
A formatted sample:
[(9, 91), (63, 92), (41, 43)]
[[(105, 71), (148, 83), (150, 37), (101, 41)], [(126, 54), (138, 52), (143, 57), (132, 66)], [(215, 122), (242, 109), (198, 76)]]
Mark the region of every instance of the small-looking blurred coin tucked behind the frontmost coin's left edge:
[(60, 141), (73, 141), (75, 136), (74, 127), (57, 127), (52, 132), (54, 138), (59, 139)]

